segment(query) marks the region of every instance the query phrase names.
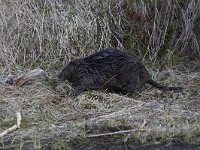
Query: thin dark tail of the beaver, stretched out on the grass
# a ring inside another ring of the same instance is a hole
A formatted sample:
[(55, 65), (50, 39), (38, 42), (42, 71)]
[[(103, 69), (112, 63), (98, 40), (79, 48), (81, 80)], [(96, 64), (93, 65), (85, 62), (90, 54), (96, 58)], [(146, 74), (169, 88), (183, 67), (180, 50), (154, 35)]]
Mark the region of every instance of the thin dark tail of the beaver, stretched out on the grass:
[(163, 90), (163, 91), (176, 91), (176, 92), (180, 92), (183, 90), (183, 87), (167, 87), (167, 86), (163, 86), (159, 83), (157, 83), (156, 81), (154, 80), (148, 80), (147, 83), (149, 83), (150, 85), (160, 89), (160, 90)]

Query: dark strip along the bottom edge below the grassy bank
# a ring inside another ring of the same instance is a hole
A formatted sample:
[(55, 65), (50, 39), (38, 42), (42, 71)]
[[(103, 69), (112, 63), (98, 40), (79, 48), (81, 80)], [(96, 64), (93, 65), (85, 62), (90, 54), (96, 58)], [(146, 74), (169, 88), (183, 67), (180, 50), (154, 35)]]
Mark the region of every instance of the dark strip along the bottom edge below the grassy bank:
[(181, 142), (175, 142), (171, 145), (165, 144), (150, 144), (145, 145), (134, 140), (124, 142), (123, 139), (115, 137), (92, 138), (86, 143), (72, 142), (72, 149), (75, 150), (155, 150), (155, 149), (171, 149), (183, 150), (192, 149), (199, 150), (200, 146), (186, 145)]

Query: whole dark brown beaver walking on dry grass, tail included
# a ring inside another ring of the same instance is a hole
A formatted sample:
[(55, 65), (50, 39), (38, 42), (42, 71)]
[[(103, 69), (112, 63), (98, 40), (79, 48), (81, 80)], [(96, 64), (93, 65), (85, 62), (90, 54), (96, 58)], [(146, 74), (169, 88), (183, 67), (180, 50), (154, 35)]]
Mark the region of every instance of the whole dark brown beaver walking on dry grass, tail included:
[(114, 48), (72, 60), (61, 69), (58, 78), (72, 84), (74, 96), (87, 90), (133, 94), (146, 83), (161, 90), (182, 90), (182, 87), (167, 87), (152, 80), (135, 55)]

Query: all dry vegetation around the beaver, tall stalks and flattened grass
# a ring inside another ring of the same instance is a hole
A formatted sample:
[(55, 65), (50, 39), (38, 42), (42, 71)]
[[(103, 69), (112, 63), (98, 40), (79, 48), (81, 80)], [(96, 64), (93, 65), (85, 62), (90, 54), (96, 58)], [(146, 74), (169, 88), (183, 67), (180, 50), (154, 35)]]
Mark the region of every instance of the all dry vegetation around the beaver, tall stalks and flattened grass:
[[(45, 73), (31, 85), (0, 85), (0, 133), (15, 124), (16, 111), (22, 114), (21, 128), (1, 138), (0, 149), (46, 143), (70, 149), (76, 140), (87, 145), (109, 136), (124, 143), (199, 145), (199, 14), (198, 0), (1, 0), (0, 74)], [(184, 91), (146, 87), (133, 98), (88, 91), (72, 99), (67, 83), (54, 90), (71, 56), (107, 47), (136, 53), (155, 80)]]

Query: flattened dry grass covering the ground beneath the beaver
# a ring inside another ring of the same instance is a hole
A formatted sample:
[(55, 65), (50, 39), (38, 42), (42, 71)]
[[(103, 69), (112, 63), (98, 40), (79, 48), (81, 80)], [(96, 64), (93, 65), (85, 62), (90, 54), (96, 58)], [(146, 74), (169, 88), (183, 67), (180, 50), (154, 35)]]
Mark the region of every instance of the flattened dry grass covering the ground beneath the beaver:
[(64, 137), (67, 143), (80, 136), (121, 135), (126, 130), (126, 141), (199, 144), (200, 91), (196, 87), (200, 86), (200, 78), (195, 74), (177, 76), (168, 83), (181, 83), (183, 93), (147, 88), (134, 98), (88, 91), (72, 99), (69, 86), (60, 84), (55, 93), (42, 78), (21, 88), (1, 86), (0, 131), (15, 123), (16, 111), (22, 113), (21, 129), (1, 139), (1, 147), (10, 140), (11, 145), (35, 141), (33, 145), (38, 146), (37, 140)]

